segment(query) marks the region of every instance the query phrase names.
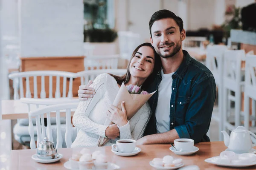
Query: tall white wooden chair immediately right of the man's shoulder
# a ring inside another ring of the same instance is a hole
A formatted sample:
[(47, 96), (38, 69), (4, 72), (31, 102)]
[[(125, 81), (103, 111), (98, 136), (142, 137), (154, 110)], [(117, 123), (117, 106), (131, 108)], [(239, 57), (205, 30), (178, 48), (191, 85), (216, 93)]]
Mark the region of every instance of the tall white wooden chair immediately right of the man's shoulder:
[(219, 141), (222, 141), (221, 130), (223, 130), (223, 57), (226, 50), (225, 45), (208, 46), (206, 57), (206, 66), (212, 72), (218, 87), (218, 115), (212, 114), (212, 119), (218, 122)]

